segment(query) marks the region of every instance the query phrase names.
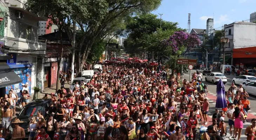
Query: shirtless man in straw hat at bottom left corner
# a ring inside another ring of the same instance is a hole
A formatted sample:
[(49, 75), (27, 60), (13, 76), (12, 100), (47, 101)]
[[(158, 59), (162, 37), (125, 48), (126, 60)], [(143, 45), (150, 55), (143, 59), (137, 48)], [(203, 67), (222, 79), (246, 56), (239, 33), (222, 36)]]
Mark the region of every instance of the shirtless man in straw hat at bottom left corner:
[(12, 124), (14, 124), (13, 128), (13, 134), (11, 140), (22, 140), (25, 139), (25, 131), (22, 127), (19, 126), (20, 123), (23, 123), (23, 121), (20, 121), (20, 119), (15, 119)]

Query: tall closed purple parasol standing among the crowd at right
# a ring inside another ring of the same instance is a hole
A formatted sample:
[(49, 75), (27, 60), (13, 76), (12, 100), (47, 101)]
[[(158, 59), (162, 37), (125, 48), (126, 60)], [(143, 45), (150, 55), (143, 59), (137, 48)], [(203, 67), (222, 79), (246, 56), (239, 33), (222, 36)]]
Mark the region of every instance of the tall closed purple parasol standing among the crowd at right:
[(216, 99), (215, 107), (220, 109), (226, 108), (227, 102), (226, 102), (226, 96), (225, 96), (225, 87), (221, 79), (217, 84), (216, 93), (217, 93), (217, 99)]

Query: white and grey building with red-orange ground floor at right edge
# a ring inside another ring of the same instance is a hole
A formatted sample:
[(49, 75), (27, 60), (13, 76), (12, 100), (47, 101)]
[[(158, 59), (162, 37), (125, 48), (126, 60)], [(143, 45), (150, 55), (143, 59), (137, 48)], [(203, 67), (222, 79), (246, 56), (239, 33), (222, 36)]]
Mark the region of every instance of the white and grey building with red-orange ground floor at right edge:
[(251, 22), (239, 21), (225, 26), (225, 38), (229, 38), (229, 43), (225, 43), (225, 52), (231, 54), (234, 66), (256, 66), (255, 30), (256, 23)]

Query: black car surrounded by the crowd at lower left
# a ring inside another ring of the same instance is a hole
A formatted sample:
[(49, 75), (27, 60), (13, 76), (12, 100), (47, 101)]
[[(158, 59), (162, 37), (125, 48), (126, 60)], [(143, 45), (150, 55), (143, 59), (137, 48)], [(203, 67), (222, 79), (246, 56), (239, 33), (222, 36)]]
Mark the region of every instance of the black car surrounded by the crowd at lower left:
[[(36, 117), (37, 112), (41, 110), (43, 112), (44, 118), (47, 119), (48, 117), (47, 117), (46, 111), (49, 107), (50, 102), (51, 100), (49, 99), (46, 99), (46, 100), (37, 99), (28, 103), (26, 106), (24, 106), (19, 114), (16, 113), (17, 117), (13, 118), (12, 121), (14, 121), (16, 118), (20, 119), (20, 121), (23, 121), (23, 123), (20, 124), (20, 127), (24, 128), (25, 130), (25, 139), (29, 137), (30, 132), (28, 131), (28, 123), (31, 117), (33, 116)], [(11, 124), (9, 127), (10, 134), (12, 134), (12, 130), (13, 130), (12, 128), (13, 128), (13, 124)]]

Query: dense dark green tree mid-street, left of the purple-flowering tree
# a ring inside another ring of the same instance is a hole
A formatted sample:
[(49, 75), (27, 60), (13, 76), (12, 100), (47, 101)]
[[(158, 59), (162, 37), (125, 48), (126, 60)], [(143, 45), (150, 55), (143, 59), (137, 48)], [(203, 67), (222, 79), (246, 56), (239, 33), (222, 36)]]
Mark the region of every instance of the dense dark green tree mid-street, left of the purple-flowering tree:
[(166, 39), (173, 31), (181, 28), (177, 27), (177, 22), (162, 20), (162, 28), (159, 29), (160, 22), (154, 14), (140, 14), (128, 19), (126, 32), (129, 35), (124, 42), (126, 52), (140, 57), (144, 56), (144, 52), (150, 52), (152, 57), (155, 52), (162, 52), (159, 51), (161, 39)]

